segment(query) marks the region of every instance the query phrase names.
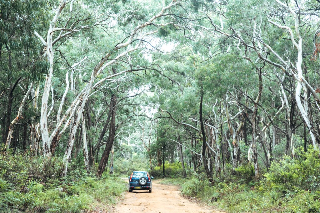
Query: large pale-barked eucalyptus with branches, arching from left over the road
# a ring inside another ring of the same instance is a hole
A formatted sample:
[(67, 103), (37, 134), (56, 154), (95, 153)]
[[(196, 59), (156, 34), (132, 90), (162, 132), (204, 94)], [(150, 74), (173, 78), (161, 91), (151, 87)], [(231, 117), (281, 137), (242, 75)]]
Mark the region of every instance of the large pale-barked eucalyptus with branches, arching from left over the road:
[[(68, 164), (68, 160), (71, 155), (71, 150), (73, 148), (74, 144), (74, 139), (75, 139), (75, 133), (77, 130), (77, 127), (79, 125), (80, 119), (81, 119), (81, 114), (82, 111), (84, 110), (84, 106), (86, 101), (88, 100), (88, 97), (92, 91), (92, 88), (98, 87), (101, 85), (105, 80), (108, 80), (110, 78), (116, 77), (118, 75), (122, 75), (126, 72), (132, 72), (132, 71), (139, 71), (141, 68), (132, 68), (130, 67), (130, 61), (134, 59), (129, 59), (129, 67), (127, 66), (125, 70), (119, 71), (117, 73), (112, 73), (110, 75), (105, 75), (98, 81), (96, 80), (96, 77), (99, 76), (103, 71), (110, 67), (111, 65), (117, 63), (119, 60), (122, 60), (122, 58), (127, 57), (128, 53), (134, 52), (141, 47), (145, 46), (145, 41), (150, 40), (151, 35), (155, 34), (157, 32), (156, 27), (161, 26), (161, 25), (167, 25), (171, 24), (170, 22), (157, 22), (157, 19), (160, 19), (162, 16), (166, 15), (166, 12), (168, 9), (171, 7), (176, 6), (179, 4), (179, 1), (173, 1), (169, 3), (167, 6), (164, 5), (162, 9), (156, 15), (151, 15), (148, 18), (142, 19), (144, 22), (142, 24), (138, 24), (134, 26), (134, 24), (131, 24), (130, 27), (128, 27), (127, 32), (129, 33), (124, 33), (123, 38), (120, 39), (120, 42), (116, 43), (114, 47), (110, 47), (107, 53), (102, 57), (100, 62), (98, 62), (95, 65), (95, 68), (91, 71), (91, 76), (88, 79), (88, 82), (84, 85), (84, 87), (79, 91), (79, 93), (76, 95), (75, 99), (71, 102), (67, 110), (65, 110), (65, 113), (61, 113), (62, 116), (60, 116), (60, 111), (58, 111), (57, 116), (57, 122), (55, 127), (52, 129), (50, 135), (49, 135), (49, 125), (48, 125), (48, 101), (49, 101), (49, 94), (50, 94), (50, 88), (52, 86), (52, 77), (53, 77), (53, 58), (54, 58), (54, 49), (53, 45), (57, 43), (61, 38), (68, 38), (69, 36), (73, 35), (76, 32), (79, 32), (80, 30), (89, 28), (89, 27), (94, 27), (94, 26), (106, 26), (109, 25), (110, 30), (107, 31), (107, 33), (112, 33), (115, 31), (118, 31), (121, 28), (117, 28), (119, 26), (119, 23), (117, 23), (117, 20), (115, 19), (115, 16), (118, 18), (124, 18), (121, 17), (121, 14), (114, 14), (110, 15), (108, 13), (107, 17), (103, 16), (97, 16), (97, 17), (89, 17), (87, 19), (89, 20), (94, 20), (95, 22), (92, 24), (92, 21), (87, 24), (87, 25), (81, 25), (81, 21), (76, 21), (73, 22), (75, 19), (72, 13), (72, 8), (74, 8), (74, 2), (69, 3), (69, 8), (70, 12), (67, 12), (64, 10), (64, 8), (67, 6), (66, 1), (60, 1), (60, 4), (56, 7), (54, 16), (50, 22), (50, 25), (48, 27), (48, 33), (47, 33), (47, 38), (44, 40), (37, 32), (35, 34), (39, 37), (40, 41), (44, 45), (44, 57), (47, 57), (47, 60), (49, 61), (49, 72), (46, 76), (46, 81), (44, 84), (44, 92), (43, 92), (43, 97), (42, 97), (42, 108), (41, 108), (41, 133), (42, 133), (42, 139), (43, 139), (43, 148), (44, 148), (44, 156), (49, 157), (51, 156), (51, 144), (53, 141), (59, 141), (62, 134), (65, 132), (65, 130), (69, 127), (70, 130), (70, 135), (68, 138), (68, 144), (67, 144), (67, 149), (65, 152), (65, 164)], [(160, 6), (160, 5), (159, 5)], [(162, 5), (161, 5), (162, 6)], [(65, 11), (65, 13), (62, 13), (62, 11)], [(60, 17), (61, 15), (61, 17)], [(123, 15), (127, 15), (124, 13)], [(133, 14), (128, 14), (127, 17), (124, 19), (129, 19), (132, 17)], [(58, 21), (58, 19), (67, 19), (68, 21)], [(85, 20), (87, 20), (85, 19)], [(70, 24), (69, 22), (73, 22)], [(56, 26), (56, 24), (59, 24), (60, 26)], [(154, 26), (154, 27), (148, 27), (148, 26)], [(107, 28), (107, 27), (106, 27)], [(147, 28), (149, 30), (147, 30)], [(53, 38), (54, 32), (59, 32), (60, 34), (56, 37)], [(148, 43), (148, 42), (147, 42)], [(125, 49), (126, 48), (126, 49)], [(122, 51), (122, 49), (124, 49)], [(66, 90), (65, 93), (68, 91)], [(59, 109), (61, 109), (64, 104), (64, 100), (62, 99), (60, 103)], [(69, 125), (71, 122), (71, 126)], [(67, 171), (67, 166), (65, 169), (66, 173)]]

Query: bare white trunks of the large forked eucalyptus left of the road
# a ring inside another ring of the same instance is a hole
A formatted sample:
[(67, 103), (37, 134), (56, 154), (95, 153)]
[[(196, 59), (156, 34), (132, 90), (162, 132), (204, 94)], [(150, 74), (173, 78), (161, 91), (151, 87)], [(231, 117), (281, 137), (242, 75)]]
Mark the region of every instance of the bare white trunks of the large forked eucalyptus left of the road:
[[(55, 128), (52, 129), (52, 133), (49, 135), (49, 126), (48, 126), (48, 99), (49, 99), (49, 93), (50, 93), (50, 88), (52, 85), (52, 76), (53, 76), (53, 57), (54, 57), (54, 52), (53, 52), (53, 48), (52, 45), (56, 42), (57, 39), (61, 38), (61, 36), (59, 35), (58, 38), (56, 38), (55, 40), (52, 41), (52, 35), (54, 31), (57, 31), (57, 29), (55, 28), (56, 22), (61, 14), (61, 11), (63, 10), (63, 8), (66, 5), (66, 0), (61, 0), (58, 9), (55, 11), (55, 16), (53, 17), (51, 23), (50, 23), (50, 27), (48, 29), (48, 34), (47, 34), (47, 40), (44, 41), (44, 39), (35, 32), (36, 36), (39, 37), (40, 41), (44, 44), (45, 48), (46, 48), (46, 57), (47, 60), (49, 62), (49, 71), (48, 74), (46, 75), (46, 79), (45, 79), (45, 84), (44, 84), (44, 91), (43, 91), (43, 97), (42, 97), (42, 105), (41, 105), (41, 116), (40, 116), (40, 125), (41, 125), (41, 135), (42, 135), (42, 141), (43, 141), (43, 155), (44, 157), (50, 158), (52, 153), (51, 153), (51, 145), (52, 145), (52, 141), (54, 140), (59, 141), (62, 134), (66, 131), (66, 129), (68, 128), (69, 124), (71, 124), (71, 128), (70, 128), (70, 135), (68, 138), (68, 145), (67, 145), (67, 149), (64, 155), (64, 161), (66, 163), (65, 165), (65, 171), (64, 174), (66, 174), (67, 172), (67, 167), (68, 167), (68, 159), (71, 155), (71, 150), (73, 148), (74, 145), (74, 136), (77, 130), (77, 127), (80, 123), (80, 117), (81, 114), (83, 112), (84, 109), (84, 104), (86, 103), (86, 101), (88, 100), (88, 97), (90, 95), (90, 92), (92, 90), (93, 87), (95, 86), (99, 86), (102, 82), (104, 82), (107, 79), (116, 77), (118, 75), (122, 75), (126, 72), (130, 72), (130, 70), (125, 70), (122, 72), (118, 72), (116, 74), (110, 75), (108, 77), (105, 77), (103, 79), (101, 79), (99, 82), (97, 82), (96, 84), (94, 84), (94, 81), (96, 79), (96, 77), (103, 71), (106, 69), (106, 67), (114, 64), (117, 62), (118, 59), (120, 59), (121, 57), (124, 57), (125, 55), (127, 55), (129, 52), (132, 52), (138, 48), (141, 47), (141, 44), (143, 43), (143, 39), (147, 36), (149, 36), (150, 34), (154, 34), (157, 31), (150, 31), (147, 33), (143, 34), (142, 29), (150, 26), (155, 19), (158, 19), (159, 17), (162, 17), (164, 15), (164, 11), (169, 10), (171, 7), (179, 4), (179, 0), (178, 1), (172, 1), (168, 6), (164, 7), (158, 14), (156, 14), (155, 16), (151, 17), (147, 22), (144, 22), (142, 24), (139, 24), (137, 27), (135, 27), (130, 36), (125, 40), (125, 42), (119, 43), (116, 45), (116, 47), (113, 49), (112, 52), (117, 52), (119, 49), (125, 48), (125, 47), (129, 47), (129, 45), (132, 44), (132, 42), (135, 41), (140, 41), (137, 43), (136, 46), (132, 47), (132, 48), (127, 48), (125, 51), (123, 51), (122, 53), (118, 54), (117, 56), (115, 56), (112, 60), (109, 59), (109, 57), (111, 56), (111, 52), (107, 53), (104, 57), (102, 57), (102, 59), (100, 60), (100, 62), (95, 66), (95, 68), (92, 71), (90, 80), (88, 82), (88, 84), (84, 87), (84, 89), (76, 96), (75, 100), (71, 103), (70, 107), (67, 109), (67, 111), (64, 113), (64, 115), (59, 118), (57, 118), (57, 121), (59, 120), (59, 122), (57, 122)], [(72, 87), (74, 87), (74, 82), (71, 82)], [(60, 110), (61, 112), (61, 110)], [(63, 126), (63, 127), (62, 127)], [(62, 129), (60, 130), (60, 128), (62, 127)]]

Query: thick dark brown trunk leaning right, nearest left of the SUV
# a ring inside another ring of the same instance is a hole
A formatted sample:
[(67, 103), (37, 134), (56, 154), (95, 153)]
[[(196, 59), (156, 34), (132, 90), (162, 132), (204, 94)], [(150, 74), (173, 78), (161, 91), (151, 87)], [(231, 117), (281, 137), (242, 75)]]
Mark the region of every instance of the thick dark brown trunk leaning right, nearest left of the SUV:
[(110, 155), (110, 151), (113, 145), (113, 141), (115, 140), (115, 134), (116, 134), (116, 103), (117, 103), (117, 97), (116, 95), (113, 95), (113, 101), (112, 105), (110, 107), (112, 108), (111, 113), (111, 121), (110, 121), (110, 127), (109, 127), (109, 136), (107, 140), (106, 147), (103, 151), (103, 154), (100, 159), (100, 163), (98, 166), (98, 171), (96, 173), (98, 178), (101, 178), (102, 173), (104, 172), (106, 165), (108, 163), (108, 158)]

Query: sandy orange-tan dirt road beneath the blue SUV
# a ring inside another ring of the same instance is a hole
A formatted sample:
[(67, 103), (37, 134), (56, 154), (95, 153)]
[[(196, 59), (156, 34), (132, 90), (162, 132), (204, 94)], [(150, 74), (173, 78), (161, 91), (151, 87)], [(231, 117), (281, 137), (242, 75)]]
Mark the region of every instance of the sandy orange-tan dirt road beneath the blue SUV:
[(176, 186), (158, 184), (152, 181), (152, 193), (133, 191), (127, 193), (116, 206), (116, 213), (219, 213), (207, 207), (200, 207), (181, 197)]

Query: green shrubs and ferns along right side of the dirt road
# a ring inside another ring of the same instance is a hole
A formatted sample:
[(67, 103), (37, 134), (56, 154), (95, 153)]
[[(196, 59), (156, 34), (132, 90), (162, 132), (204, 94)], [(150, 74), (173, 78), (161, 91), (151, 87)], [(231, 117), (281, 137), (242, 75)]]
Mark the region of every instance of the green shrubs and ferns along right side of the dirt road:
[(260, 179), (254, 177), (252, 164), (242, 164), (235, 172), (227, 164), (212, 185), (202, 173), (180, 180), (180, 186), (181, 194), (228, 212), (319, 213), (319, 151), (299, 149), (295, 157), (275, 160)]

